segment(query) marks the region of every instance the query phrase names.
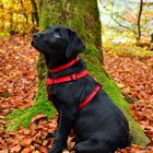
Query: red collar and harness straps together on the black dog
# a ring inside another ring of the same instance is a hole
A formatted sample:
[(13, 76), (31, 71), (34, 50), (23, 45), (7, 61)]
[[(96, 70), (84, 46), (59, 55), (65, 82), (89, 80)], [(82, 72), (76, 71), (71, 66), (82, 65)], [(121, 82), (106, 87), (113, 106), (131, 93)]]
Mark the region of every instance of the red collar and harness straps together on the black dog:
[[(61, 66), (61, 67), (58, 67), (56, 69), (51, 69), (49, 70), (50, 72), (59, 72), (61, 70), (64, 70), (71, 66), (73, 66), (74, 63), (76, 63), (79, 61), (79, 57), (73, 59), (72, 61)], [(83, 70), (81, 71), (80, 73), (73, 73), (73, 74), (70, 74), (70, 75), (66, 75), (66, 76), (60, 76), (60, 78), (57, 78), (57, 79), (49, 79), (47, 78), (46, 79), (46, 85), (52, 85), (52, 84), (58, 84), (58, 83), (64, 83), (64, 82), (69, 82), (69, 81), (74, 81), (74, 80), (78, 80), (78, 79), (81, 79), (85, 75), (91, 75), (86, 70)], [(91, 75), (92, 76), (92, 75)], [(93, 76), (92, 76), (93, 78)], [(90, 103), (90, 101), (96, 95), (96, 93), (101, 90), (101, 85), (96, 85), (94, 87), (94, 90), (90, 93), (90, 95), (82, 102), (80, 103), (79, 105), (79, 108), (83, 108), (85, 105), (87, 105)]]

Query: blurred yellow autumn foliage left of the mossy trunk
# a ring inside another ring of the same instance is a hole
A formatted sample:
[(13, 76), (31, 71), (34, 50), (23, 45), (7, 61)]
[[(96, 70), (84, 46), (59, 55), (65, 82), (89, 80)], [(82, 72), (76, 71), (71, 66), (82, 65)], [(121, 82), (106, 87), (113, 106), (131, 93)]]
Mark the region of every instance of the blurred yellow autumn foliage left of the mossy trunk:
[(0, 0), (0, 34), (30, 34), (37, 30), (38, 5), (39, 0)]

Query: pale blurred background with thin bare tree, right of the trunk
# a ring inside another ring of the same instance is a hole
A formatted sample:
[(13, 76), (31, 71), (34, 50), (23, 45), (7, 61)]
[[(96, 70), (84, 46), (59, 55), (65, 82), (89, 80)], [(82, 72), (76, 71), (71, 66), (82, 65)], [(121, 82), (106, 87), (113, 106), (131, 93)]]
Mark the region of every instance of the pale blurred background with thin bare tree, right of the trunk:
[(102, 17), (107, 16), (107, 27), (119, 31), (119, 35), (123, 34), (122, 37), (149, 43), (152, 31), (152, 4), (143, 0), (101, 0)]

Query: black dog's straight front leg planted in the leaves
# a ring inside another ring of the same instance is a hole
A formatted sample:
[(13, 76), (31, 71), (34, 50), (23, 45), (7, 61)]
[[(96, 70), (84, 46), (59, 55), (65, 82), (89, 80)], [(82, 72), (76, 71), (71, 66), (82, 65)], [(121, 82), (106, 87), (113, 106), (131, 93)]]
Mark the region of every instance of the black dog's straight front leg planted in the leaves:
[(68, 108), (60, 109), (59, 127), (56, 132), (55, 142), (48, 153), (61, 153), (67, 148), (67, 139), (71, 131), (76, 110), (68, 110)]

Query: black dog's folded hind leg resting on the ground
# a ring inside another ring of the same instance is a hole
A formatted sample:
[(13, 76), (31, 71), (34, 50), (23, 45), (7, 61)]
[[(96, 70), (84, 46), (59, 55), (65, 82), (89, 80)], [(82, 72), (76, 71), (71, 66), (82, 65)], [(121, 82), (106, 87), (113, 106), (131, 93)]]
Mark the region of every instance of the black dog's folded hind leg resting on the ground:
[(110, 148), (98, 139), (80, 141), (75, 144), (74, 151), (75, 153), (113, 153)]

